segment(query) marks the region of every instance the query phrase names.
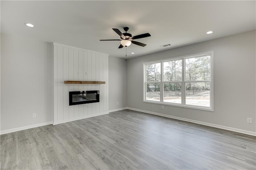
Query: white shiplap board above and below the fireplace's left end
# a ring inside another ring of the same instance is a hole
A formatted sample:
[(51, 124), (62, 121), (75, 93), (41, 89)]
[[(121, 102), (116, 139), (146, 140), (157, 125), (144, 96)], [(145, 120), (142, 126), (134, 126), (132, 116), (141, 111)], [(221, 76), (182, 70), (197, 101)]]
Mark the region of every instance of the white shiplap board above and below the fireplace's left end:
[[(68, 80), (74, 81), (74, 49), (71, 48), (68, 49)], [(68, 85), (68, 91), (74, 91), (74, 84)], [(74, 119), (74, 105), (68, 108), (69, 119)]]

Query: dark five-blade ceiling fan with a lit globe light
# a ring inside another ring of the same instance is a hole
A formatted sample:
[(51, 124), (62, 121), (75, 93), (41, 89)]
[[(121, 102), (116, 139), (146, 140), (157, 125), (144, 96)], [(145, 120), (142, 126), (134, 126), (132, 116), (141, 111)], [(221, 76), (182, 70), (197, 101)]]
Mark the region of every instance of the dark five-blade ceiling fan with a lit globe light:
[(130, 46), (132, 43), (136, 44), (136, 45), (140, 45), (142, 47), (145, 47), (146, 44), (144, 43), (140, 43), (140, 42), (136, 42), (133, 40), (139, 39), (139, 38), (145, 38), (145, 37), (150, 37), (151, 35), (149, 33), (145, 33), (145, 34), (140, 34), (138, 36), (132, 36), (132, 34), (127, 33), (127, 31), (129, 30), (128, 27), (124, 27), (124, 31), (125, 33), (120, 32), (117, 28), (112, 28), (121, 38), (121, 40), (100, 40), (100, 41), (121, 41), (121, 44), (118, 48), (122, 48), (122, 47), (128, 47)]

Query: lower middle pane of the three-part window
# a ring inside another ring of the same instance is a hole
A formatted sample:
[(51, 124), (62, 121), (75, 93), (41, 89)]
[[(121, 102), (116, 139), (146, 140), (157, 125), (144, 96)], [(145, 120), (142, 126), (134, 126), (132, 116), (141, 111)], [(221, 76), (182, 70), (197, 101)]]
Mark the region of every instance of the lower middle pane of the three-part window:
[(181, 83), (164, 83), (164, 102), (181, 104)]

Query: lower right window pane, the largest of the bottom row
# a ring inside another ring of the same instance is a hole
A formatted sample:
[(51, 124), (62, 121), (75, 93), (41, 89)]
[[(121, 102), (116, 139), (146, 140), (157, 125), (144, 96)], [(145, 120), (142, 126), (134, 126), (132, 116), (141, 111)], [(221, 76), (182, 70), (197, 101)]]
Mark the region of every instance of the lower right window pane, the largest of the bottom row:
[(186, 105), (210, 107), (210, 83), (186, 83)]

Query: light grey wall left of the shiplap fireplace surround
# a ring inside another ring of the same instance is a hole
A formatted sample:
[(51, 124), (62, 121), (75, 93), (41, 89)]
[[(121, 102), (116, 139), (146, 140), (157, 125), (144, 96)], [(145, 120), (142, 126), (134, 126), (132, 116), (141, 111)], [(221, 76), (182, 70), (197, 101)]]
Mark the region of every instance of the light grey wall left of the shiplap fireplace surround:
[(52, 44), (1, 34), (1, 134), (52, 120)]

